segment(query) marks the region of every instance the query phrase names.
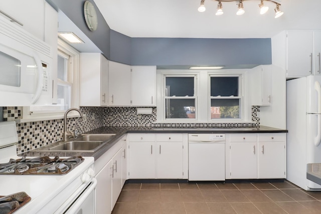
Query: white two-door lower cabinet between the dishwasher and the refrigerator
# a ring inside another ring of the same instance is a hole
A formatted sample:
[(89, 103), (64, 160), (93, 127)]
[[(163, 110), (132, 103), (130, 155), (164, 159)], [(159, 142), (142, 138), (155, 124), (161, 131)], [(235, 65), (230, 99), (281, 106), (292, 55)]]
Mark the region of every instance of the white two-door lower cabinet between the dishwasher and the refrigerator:
[(226, 179), (286, 177), (286, 134), (229, 134)]

